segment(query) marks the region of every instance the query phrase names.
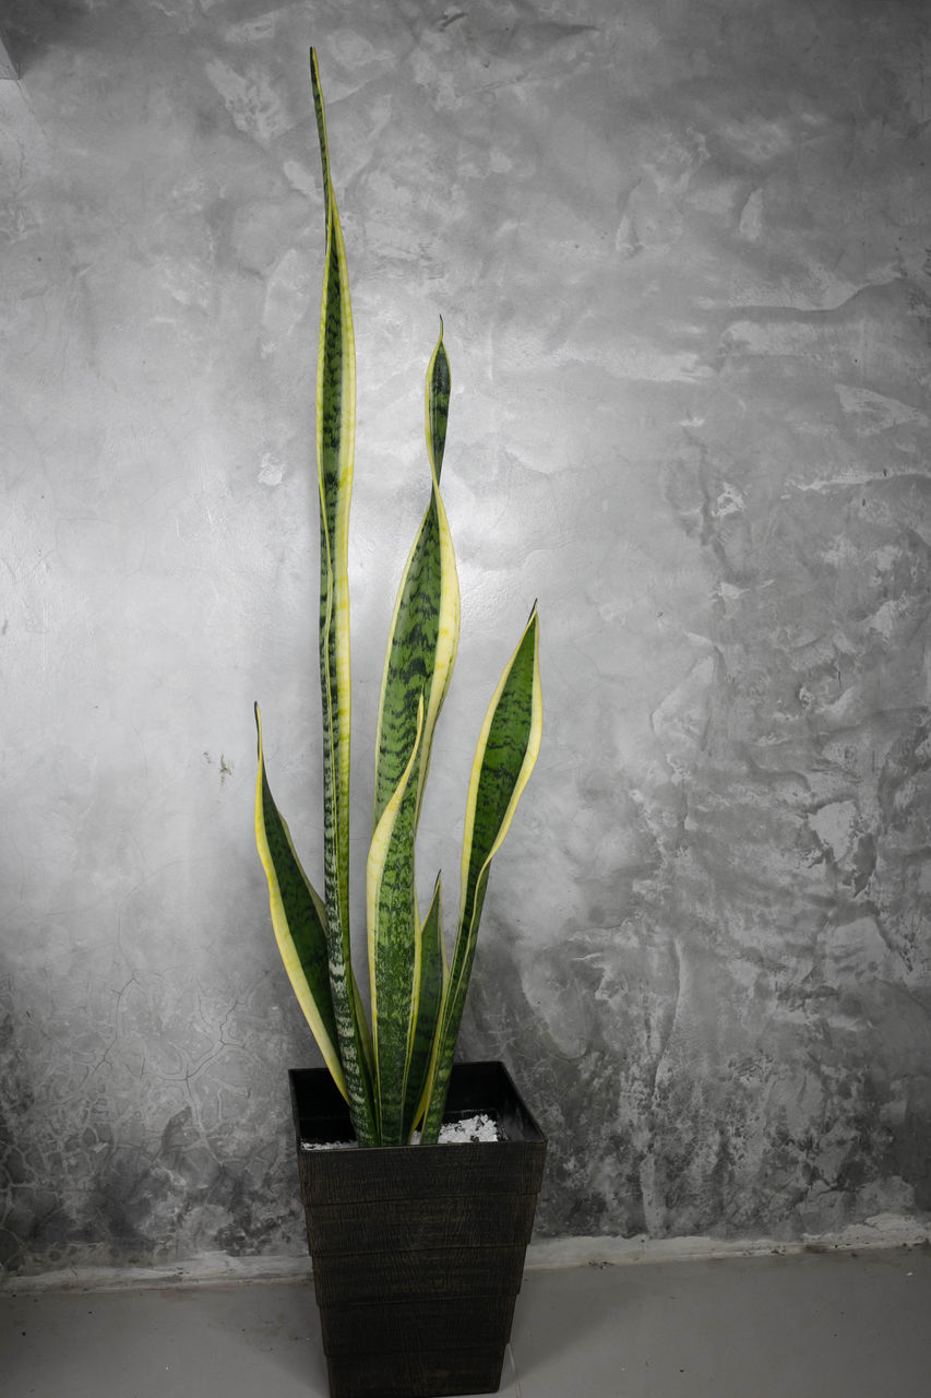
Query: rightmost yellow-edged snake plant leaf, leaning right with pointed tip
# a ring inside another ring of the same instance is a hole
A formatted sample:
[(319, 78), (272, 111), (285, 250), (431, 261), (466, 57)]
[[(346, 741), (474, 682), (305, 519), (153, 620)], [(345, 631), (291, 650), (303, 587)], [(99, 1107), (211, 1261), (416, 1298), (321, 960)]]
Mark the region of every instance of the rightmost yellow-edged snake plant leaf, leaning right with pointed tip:
[(488, 706), (472, 762), (466, 802), (459, 931), (433, 1050), (425, 1141), (436, 1139), (442, 1121), (491, 861), (507, 835), (533, 772), (541, 731), (540, 622), (534, 605)]

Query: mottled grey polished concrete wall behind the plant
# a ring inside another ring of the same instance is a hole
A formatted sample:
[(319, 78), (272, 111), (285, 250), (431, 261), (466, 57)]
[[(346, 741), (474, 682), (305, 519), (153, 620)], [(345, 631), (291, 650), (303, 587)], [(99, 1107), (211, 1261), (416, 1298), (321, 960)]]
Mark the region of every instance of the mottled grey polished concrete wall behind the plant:
[[(356, 927), (446, 322), (456, 899), (534, 597), (540, 765), (463, 1048), (549, 1236), (931, 1216), (924, 0), (29, 0), (0, 82), (0, 1253), (298, 1254), (317, 1062), (253, 849), (320, 874), (329, 96), (359, 359)], [(452, 921), (453, 909), (447, 910)]]

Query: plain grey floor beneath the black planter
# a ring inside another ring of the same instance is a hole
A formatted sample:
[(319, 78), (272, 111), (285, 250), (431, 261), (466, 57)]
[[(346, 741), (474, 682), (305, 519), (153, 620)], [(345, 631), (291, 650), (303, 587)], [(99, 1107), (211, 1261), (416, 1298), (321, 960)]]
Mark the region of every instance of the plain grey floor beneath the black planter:
[[(931, 1248), (533, 1271), (503, 1398), (928, 1398)], [(326, 1398), (308, 1282), (0, 1296), (4, 1398)]]

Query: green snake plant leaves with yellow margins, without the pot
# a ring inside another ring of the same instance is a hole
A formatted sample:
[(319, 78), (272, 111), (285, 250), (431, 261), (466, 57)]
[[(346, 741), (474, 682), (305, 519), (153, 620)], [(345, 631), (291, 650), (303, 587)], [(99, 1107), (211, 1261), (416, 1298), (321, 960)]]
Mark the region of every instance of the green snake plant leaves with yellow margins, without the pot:
[(456, 558), (439, 489), (450, 401), (440, 320), (426, 372), (429, 499), (394, 603), (375, 741), (375, 812), (366, 863), (369, 1023), (349, 939), (348, 526), (355, 347), (313, 49), (310, 80), (326, 218), (316, 396), (324, 898), (308, 879), (271, 795), (257, 705), (256, 842), (285, 969), (348, 1103), (358, 1142), (405, 1145), (418, 1131), (419, 1141), (431, 1144), (442, 1121), (492, 856), (507, 833), (540, 749), (540, 626), (534, 605), (478, 738), (450, 963), (440, 878), (421, 916), (414, 867), (433, 731), (453, 672), (460, 624)]

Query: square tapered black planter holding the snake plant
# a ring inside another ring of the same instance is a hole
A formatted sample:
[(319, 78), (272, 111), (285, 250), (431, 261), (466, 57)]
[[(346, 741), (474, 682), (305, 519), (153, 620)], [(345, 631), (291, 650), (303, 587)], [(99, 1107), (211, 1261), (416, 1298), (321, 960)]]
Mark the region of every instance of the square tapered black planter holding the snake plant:
[(326, 1068), (288, 1076), (331, 1398), (496, 1392), (547, 1152), (503, 1064), (453, 1068), (446, 1120), (503, 1138), (468, 1145), (303, 1151), (349, 1113)]

